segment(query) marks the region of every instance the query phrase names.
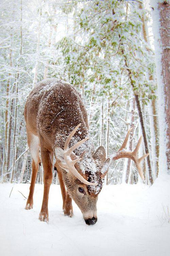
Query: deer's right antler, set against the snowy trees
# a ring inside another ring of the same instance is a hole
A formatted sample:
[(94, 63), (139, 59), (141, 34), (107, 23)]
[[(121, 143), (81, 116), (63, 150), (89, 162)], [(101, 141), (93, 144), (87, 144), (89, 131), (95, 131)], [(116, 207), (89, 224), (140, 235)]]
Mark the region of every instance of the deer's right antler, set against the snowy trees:
[(128, 151), (125, 150), (126, 145), (127, 145), (127, 143), (128, 143), (129, 134), (130, 134), (130, 132), (131, 132), (132, 129), (133, 129), (133, 128), (130, 128), (130, 129), (129, 129), (128, 133), (126, 134), (125, 140), (124, 140), (124, 142), (123, 142), (121, 148), (118, 150), (118, 152), (116, 153), (116, 155), (112, 158), (112, 160), (114, 161), (114, 160), (117, 160), (117, 159), (119, 159), (119, 158), (124, 158), (124, 157), (125, 157), (125, 158), (130, 158), (131, 160), (133, 160), (133, 161), (135, 162), (135, 165), (136, 165), (136, 167), (137, 167), (137, 170), (138, 170), (138, 172), (139, 172), (139, 175), (140, 175), (141, 179), (144, 180), (145, 177), (144, 177), (144, 175), (143, 175), (143, 171), (142, 171), (142, 168), (141, 168), (141, 161), (142, 161), (145, 157), (147, 157), (147, 156), (149, 155), (149, 153), (143, 155), (143, 156), (140, 157), (140, 158), (138, 158), (138, 151), (139, 151), (139, 147), (140, 147), (140, 144), (141, 144), (141, 141), (142, 141), (142, 136), (139, 138), (138, 143), (137, 143), (137, 145), (136, 145), (136, 148), (135, 148), (135, 150), (134, 150), (133, 152), (128, 152)]

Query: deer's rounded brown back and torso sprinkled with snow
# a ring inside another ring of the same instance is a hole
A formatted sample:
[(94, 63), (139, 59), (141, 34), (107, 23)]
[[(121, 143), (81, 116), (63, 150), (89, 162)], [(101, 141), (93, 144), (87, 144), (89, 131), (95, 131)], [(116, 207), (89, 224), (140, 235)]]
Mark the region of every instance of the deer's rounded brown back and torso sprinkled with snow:
[(88, 134), (87, 113), (81, 95), (68, 83), (57, 79), (41, 81), (28, 96), (24, 116), (27, 129), (42, 138), (48, 147), (65, 140), (75, 126), (82, 123), (80, 139)]

